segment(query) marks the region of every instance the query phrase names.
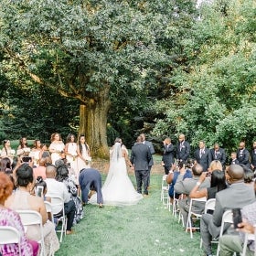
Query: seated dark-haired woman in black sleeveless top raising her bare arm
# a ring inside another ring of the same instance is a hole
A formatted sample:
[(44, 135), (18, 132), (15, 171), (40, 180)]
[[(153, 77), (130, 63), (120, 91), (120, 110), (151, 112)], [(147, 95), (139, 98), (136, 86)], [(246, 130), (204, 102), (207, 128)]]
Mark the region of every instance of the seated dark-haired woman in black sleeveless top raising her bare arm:
[(198, 190), (199, 184), (203, 183), (207, 176), (207, 172), (203, 172), (199, 177), (198, 184), (191, 190), (190, 198), (207, 197), (208, 199), (215, 198), (216, 193), (227, 188), (225, 172), (222, 170), (215, 170), (210, 176), (210, 187), (205, 187)]

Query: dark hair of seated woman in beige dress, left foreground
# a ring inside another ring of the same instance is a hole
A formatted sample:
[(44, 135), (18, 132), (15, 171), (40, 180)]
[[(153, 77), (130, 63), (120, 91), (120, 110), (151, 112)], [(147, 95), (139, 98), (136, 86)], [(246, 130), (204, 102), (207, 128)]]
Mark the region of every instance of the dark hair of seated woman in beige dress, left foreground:
[(16, 187), (27, 187), (29, 183), (33, 183), (33, 169), (27, 164), (20, 165), (16, 170)]

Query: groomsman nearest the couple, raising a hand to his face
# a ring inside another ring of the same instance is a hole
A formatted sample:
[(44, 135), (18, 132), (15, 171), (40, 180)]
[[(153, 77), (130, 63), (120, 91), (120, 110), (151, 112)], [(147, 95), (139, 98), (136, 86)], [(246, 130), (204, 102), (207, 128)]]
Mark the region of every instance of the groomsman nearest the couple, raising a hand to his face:
[(165, 138), (164, 142), (164, 155), (162, 157), (162, 165), (165, 167), (165, 175), (169, 174), (171, 166), (175, 162), (175, 147), (169, 137)]

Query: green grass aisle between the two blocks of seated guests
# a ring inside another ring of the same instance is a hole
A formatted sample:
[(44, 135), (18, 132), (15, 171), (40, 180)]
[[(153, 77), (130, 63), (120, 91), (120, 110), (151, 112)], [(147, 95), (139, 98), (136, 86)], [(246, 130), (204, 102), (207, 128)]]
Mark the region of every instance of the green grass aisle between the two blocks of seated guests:
[[(204, 255), (199, 249), (199, 234), (191, 240), (160, 202), (161, 178), (151, 177), (150, 195), (136, 206), (86, 206), (75, 234), (64, 238), (55, 255)], [(135, 184), (134, 176), (131, 179)]]

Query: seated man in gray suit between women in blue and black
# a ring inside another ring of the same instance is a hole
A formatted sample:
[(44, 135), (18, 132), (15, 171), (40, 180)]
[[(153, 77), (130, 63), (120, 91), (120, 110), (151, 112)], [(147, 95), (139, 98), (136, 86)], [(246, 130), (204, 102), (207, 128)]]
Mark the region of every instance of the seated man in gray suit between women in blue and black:
[[(184, 219), (185, 225), (187, 225), (187, 216), (188, 216), (189, 204), (190, 204), (190, 197), (188, 196), (191, 190), (196, 185), (200, 188), (209, 187), (209, 178), (205, 179), (202, 184), (199, 182), (199, 177), (202, 174), (202, 172), (203, 172), (202, 165), (197, 164), (192, 167), (192, 173), (193, 173), (192, 178), (186, 178), (185, 180), (183, 180), (183, 175), (179, 175), (176, 180), (176, 185), (175, 185), (176, 193), (184, 194), (187, 196), (186, 198), (179, 199), (178, 201), (178, 206), (182, 214), (182, 217)], [(193, 202), (192, 210), (194, 212), (202, 213), (204, 211), (204, 208), (205, 208), (205, 202)]]

